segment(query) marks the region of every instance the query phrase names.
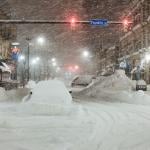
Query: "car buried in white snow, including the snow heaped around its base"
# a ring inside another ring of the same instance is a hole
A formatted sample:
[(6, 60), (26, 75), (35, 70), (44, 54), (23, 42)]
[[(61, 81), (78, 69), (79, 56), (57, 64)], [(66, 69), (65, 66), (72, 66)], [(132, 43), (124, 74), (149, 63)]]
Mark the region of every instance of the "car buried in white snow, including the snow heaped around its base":
[(72, 97), (61, 81), (41, 81), (32, 89), (32, 93), (19, 108), (21, 112), (34, 115), (62, 115), (70, 114), (76, 109), (71, 105)]

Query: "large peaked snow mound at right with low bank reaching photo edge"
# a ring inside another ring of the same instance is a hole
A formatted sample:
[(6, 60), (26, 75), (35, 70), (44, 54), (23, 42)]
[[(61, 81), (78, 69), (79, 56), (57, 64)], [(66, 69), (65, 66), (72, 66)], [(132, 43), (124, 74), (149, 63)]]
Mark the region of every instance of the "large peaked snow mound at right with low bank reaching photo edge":
[(74, 92), (77, 99), (88, 98), (100, 101), (125, 102), (134, 104), (150, 104), (150, 96), (143, 91), (132, 91), (134, 82), (123, 70), (117, 70), (108, 77), (99, 77), (94, 83), (80, 92)]

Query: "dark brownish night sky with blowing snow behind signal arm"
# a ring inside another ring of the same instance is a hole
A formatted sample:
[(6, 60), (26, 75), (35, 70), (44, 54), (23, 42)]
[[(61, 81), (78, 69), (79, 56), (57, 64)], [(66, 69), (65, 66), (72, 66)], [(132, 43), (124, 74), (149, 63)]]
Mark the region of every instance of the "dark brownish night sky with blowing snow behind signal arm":
[[(129, 0), (7, 0), (14, 19), (69, 19), (75, 16), (80, 20), (107, 18), (118, 20)], [(94, 51), (117, 42), (118, 27), (91, 27), (79, 25), (71, 30), (67, 25), (19, 25), (18, 41), (25, 50), (25, 38), (33, 40), (45, 36), (48, 42), (46, 50), (60, 57), (62, 61), (78, 61), (80, 50), (89, 48)], [(114, 38), (117, 37), (117, 38)], [(50, 54), (51, 55), (51, 54)]]

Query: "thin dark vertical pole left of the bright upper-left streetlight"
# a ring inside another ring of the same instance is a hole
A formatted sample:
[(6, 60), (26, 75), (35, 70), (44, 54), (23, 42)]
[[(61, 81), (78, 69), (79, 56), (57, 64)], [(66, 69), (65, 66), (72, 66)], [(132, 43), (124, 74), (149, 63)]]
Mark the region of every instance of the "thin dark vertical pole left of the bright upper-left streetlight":
[(30, 38), (26, 38), (26, 41), (28, 42), (28, 51), (27, 51), (27, 81), (30, 80)]

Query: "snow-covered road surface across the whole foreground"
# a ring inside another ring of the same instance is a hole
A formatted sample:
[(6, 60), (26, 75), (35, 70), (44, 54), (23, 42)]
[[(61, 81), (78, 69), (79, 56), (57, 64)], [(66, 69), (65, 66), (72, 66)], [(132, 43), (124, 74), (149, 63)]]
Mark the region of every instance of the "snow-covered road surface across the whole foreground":
[[(74, 103), (70, 115), (20, 113), (1, 105), (0, 149), (148, 150), (150, 107), (119, 103)], [(3, 107), (2, 107), (3, 106)]]

